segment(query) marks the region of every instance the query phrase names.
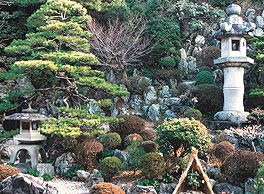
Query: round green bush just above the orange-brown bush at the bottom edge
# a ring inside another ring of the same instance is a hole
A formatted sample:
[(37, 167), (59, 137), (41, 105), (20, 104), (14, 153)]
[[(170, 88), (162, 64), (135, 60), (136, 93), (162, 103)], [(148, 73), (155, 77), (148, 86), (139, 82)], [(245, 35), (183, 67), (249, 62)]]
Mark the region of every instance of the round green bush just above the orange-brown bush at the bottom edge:
[(115, 156), (106, 157), (102, 160), (100, 165), (100, 170), (102, 175), (106, 181), (110, 181), (110, 179), (117, 175), (119, 170), (122, 167), (122, 162), (119, 158)]

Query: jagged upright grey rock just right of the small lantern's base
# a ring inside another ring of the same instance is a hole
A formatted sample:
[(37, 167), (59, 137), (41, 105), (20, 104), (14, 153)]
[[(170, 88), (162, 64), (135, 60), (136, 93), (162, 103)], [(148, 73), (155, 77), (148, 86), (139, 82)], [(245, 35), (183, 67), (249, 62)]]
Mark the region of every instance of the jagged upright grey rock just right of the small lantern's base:
[(73, 153), (64, 153), (56, 159), (55, 167), (57, 174), (64, 176), (67, 170), (74, 165), (73, 156)]

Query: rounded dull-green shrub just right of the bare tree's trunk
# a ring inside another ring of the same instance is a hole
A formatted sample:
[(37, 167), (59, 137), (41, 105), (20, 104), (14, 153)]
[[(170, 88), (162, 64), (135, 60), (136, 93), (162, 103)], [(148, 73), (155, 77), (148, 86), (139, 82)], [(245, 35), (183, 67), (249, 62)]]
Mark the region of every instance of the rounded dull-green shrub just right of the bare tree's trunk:
[(150, 86), (149, 80), (139, 75), (129, 77), (127, 80), (127, 89), (131, 94), (142, 95), (148, 86)]

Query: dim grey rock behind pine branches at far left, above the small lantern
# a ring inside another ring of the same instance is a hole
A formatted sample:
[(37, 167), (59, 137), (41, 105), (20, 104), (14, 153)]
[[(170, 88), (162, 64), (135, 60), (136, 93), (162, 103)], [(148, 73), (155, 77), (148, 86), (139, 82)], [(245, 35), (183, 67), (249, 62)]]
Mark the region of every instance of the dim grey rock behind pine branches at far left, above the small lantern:
[[(15, 91), (25, 92), (25, 91), (35, 90), (31, 81), (27, 77), (17, 78), (16, 82), (17, 82), (17, 84), (14, 87)], [(32, 94), (33, 94), (33, 92), (26, 93), (26, 94), (23, 94), (23, 97), (29, 98)]]

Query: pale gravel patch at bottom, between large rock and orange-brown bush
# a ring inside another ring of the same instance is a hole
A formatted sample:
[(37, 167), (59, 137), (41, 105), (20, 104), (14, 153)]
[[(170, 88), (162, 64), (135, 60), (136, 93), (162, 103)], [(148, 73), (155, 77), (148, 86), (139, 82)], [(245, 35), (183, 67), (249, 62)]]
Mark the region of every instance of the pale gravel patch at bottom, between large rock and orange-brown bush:
[(88, 194), (89, 187), (84, 182), (53, 178), (48, 183), (56, 187), (59, 194)]

